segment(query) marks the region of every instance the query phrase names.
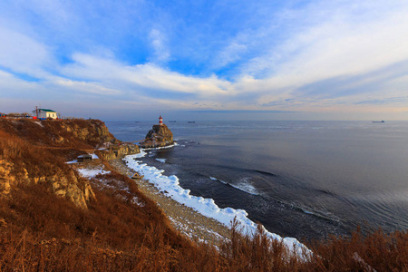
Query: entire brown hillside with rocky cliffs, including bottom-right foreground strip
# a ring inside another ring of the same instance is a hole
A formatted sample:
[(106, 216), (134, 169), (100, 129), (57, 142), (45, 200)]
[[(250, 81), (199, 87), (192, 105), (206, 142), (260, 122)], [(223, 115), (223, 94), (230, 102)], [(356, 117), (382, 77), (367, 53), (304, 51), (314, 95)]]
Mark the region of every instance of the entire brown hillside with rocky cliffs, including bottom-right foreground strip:
[[(317, 241), (303, 259), (236, 224), (219, 248), (196, 244), (110, 163), (138, 151), (102, 121), (0, 119), (0, 271), (408, 271), (406, 232)], [(102, 160), (67, 163), (88, 153)]]

